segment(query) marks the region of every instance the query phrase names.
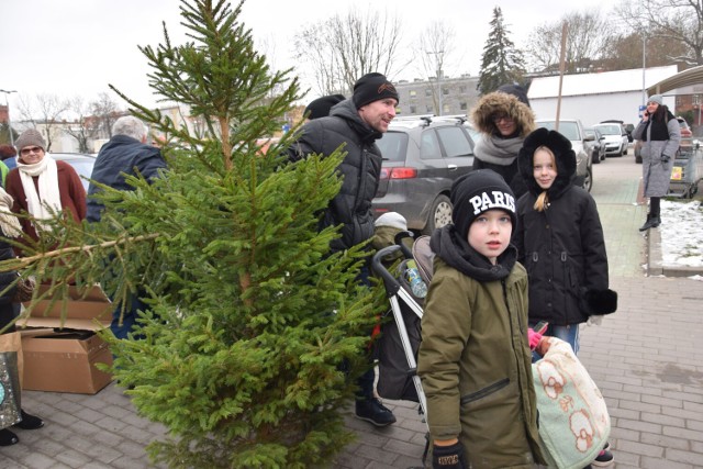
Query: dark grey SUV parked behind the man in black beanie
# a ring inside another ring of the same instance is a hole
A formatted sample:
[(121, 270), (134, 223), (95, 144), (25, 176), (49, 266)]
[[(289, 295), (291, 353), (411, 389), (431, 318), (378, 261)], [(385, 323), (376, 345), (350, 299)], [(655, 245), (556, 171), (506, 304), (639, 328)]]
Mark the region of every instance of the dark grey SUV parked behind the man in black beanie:
[(473, 166), (465, 116), (397, 118), (377, 141), (383, 165), (373, 214), (398, 212), (423, 234), (451, 222), (449, 190)]

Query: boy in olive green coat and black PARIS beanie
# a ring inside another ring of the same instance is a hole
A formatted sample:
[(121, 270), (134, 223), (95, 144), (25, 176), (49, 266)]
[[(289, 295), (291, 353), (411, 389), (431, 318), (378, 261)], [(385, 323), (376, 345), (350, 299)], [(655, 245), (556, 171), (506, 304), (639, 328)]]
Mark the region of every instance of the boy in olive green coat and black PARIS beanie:
[(453, 224), (425, 300), (417, 372), (427, 398), (433, 467), (544, 464), (527, 342), (527, 273), (510, 245), (515, 199), (490, 169), (458, 179)]

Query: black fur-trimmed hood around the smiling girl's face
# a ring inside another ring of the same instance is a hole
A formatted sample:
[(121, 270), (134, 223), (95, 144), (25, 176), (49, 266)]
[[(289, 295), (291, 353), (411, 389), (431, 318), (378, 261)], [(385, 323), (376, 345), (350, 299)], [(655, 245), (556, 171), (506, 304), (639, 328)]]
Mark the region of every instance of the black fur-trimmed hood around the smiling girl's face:
[(527, 135), (517, 155), (517, 168), (527, 190), (534, 196), (543, 191), (533, 172), (533, 155), (540, 146), (548, 147), (557, 163), (557, 177), (547, 190), (549, 200), (556, 200), (571, 187), (576, 177), (576, 153), (571, 148), (571, 142), (559, 132), (539, 127)]

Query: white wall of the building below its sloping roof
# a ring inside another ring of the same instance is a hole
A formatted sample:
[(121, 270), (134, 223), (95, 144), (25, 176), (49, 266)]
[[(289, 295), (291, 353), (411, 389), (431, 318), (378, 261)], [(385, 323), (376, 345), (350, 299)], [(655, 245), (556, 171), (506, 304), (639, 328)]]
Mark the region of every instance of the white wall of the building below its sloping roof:
[[(673, 110), (676, 98), (665, 97), (663, 103)], [(531, 98), (529, 104), (537, 119), (555, 119), (557, 115), (556, 98)], [(559, 116), (579, 119), (587, 127), (609, 119), (636, 125), (640, 104), (641, 91), (569, 96), (561, 99)]]

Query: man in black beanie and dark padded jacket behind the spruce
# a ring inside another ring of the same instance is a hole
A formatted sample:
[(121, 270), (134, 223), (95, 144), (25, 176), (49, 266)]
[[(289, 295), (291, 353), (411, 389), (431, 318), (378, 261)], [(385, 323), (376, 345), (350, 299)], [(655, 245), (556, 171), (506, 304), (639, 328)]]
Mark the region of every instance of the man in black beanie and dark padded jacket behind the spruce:
[[(330, 155), (341, 145), (346, 156), (339, 165), (342, 189), (325, 211), (320, 228), (342, 225), (342, 237), (332, 242), (332, 253), (348, 249), (373, 236), (371, 200), (381, 174), (381, 152), (376, 141), (388, 131), (399, 103), (393, 83), (377, 72), (367, 74), (354, 85), (354, 96), (334, 105), (330, 116), (308, 122), (301, 136), (289, 148), (291, 161), (310, 154)], [(369, 284), (368, 268), (360, 281)], [(395, 422), (392, 412), (373, 395), (373, 369), (359, 378), (356, 415), (377, 426)]]

